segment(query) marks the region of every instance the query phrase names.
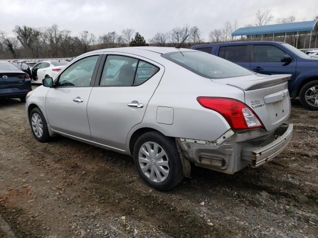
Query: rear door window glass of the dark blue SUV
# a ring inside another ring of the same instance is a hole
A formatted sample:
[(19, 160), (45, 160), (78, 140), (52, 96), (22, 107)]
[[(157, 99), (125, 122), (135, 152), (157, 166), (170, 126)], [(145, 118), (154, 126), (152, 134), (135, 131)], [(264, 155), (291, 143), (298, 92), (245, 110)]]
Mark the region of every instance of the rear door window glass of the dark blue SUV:
[(223, 46), (220, 47), (219, 57), (232, 62), (249, 62), (247, 46)]

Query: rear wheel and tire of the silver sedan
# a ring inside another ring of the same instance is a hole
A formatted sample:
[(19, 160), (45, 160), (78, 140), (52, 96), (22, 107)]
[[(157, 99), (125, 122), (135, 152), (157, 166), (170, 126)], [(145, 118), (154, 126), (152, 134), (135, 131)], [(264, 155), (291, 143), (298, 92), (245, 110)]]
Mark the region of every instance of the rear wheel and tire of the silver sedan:
[[(152, 153), (147, 156), (148, 148), (157, 151), (159, 156), (164, 155), (157, 159)], [(138, 138), (134, 147), (134, 162), (142, 179), (159, 191), (174, 187), (184, 177), (175, 140), (157, 131), (147, 132)]]

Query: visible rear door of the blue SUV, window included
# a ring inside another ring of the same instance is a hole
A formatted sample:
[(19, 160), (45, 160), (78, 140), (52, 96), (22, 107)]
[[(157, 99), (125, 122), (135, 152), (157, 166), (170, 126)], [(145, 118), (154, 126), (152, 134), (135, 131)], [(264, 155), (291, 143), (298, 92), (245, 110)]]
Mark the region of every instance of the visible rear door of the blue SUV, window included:
[(250, 69), (249, 48), (249, 45), (221, 46), (217, 56)]

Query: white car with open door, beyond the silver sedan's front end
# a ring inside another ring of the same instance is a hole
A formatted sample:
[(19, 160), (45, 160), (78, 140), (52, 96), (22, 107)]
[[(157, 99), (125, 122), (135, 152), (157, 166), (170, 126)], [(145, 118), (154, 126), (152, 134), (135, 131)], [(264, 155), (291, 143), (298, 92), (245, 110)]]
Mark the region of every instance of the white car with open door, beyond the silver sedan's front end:
[(31, 69), (32, 83), (41, 83), (47, 77), (54, 78), (69, 61), (40, 61)]

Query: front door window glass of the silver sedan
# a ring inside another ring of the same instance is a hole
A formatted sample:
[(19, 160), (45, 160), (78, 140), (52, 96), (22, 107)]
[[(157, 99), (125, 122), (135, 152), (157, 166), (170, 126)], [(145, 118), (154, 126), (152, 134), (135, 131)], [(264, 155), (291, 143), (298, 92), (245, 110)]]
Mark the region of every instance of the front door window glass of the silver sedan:
[(61, 87), (87, 87), (93, 75), (99, 56), (90, 56), (76, 61), (68, 67), (59, 77), (58, 86)]

